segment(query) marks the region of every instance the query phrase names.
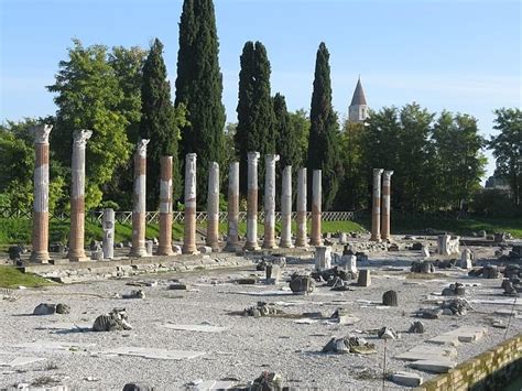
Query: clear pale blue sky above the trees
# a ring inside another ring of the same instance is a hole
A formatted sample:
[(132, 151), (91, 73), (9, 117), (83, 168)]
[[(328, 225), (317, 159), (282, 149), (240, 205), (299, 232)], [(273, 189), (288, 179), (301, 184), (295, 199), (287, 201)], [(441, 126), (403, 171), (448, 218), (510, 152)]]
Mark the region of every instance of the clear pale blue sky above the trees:
[[(285, 95), (291, 110), (309, 109), (322, 41), (341, 117), (359, 74), (373, 109), (416, 101), (467, 112), (485, 135), (493, 133), (493, 109), (521, 107), (520, 1), (215, 0), (215, 7), (229, 122), (249, 40), (267, 46), (272, 94)], [(143, 47), (159, 37), (174, 85), (181, 10), (181, 0), (0, 0), (0, 121), (55, 112), (45, 86), (72, 37)]]

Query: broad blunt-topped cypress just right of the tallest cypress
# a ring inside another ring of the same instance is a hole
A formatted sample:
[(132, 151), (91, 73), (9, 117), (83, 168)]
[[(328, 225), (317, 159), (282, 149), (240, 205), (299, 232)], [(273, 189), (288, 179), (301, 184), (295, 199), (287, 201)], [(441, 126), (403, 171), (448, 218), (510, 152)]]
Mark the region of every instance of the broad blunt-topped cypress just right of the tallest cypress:
[[(263, 187), (264, 155), (275, 153), (274, 111), (270, 96), (270, 62), (261, 42), (247, 42), (240, 58), (238, 127), (235, 135), (239, 154), (240, 192), (247, 194), (247, 154), (258, 151), (260, 188)], [(262, 193), (261, 193), (262, 194)]]

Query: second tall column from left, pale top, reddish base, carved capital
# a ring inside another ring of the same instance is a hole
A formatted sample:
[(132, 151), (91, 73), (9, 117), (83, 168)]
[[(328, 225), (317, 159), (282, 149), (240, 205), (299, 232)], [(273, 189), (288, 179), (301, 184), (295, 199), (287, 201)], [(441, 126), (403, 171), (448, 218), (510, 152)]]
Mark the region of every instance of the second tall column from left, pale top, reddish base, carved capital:
[(85, 235), (85, 146), (93, 135), (90, 130), (76, 130), (73, 134), (73, 170), (70, 192), (69, 253), (72, 262), (87, 261)]

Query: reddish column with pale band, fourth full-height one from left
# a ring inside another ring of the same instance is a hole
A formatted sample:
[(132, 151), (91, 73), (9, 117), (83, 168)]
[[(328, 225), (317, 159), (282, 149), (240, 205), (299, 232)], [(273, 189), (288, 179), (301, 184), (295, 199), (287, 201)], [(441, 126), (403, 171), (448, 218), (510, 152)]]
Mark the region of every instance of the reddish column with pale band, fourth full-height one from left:
[(159, 256), (172, 256), (172, 156), (160, 158)]

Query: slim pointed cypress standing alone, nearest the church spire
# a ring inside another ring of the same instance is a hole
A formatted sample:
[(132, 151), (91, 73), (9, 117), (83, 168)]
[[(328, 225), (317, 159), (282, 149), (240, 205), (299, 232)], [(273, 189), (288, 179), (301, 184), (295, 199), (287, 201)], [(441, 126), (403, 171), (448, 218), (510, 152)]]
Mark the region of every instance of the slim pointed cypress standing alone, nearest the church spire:
[[(324, 42), (317, 50), (315, 62), (314, 93), (309, 112), (308, 138), (308, 186), (312, 186), (314, 170), (323, 170), (323, 208), (331, 208), (339, 188), (341, 162), (339, 159), (339, 126), (331, 107), (329, 53)], [(312, 193), (311, 193), (312, 194)], [(311, 197), (308, 197), (311, 198)]]

